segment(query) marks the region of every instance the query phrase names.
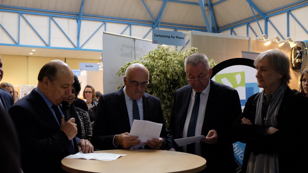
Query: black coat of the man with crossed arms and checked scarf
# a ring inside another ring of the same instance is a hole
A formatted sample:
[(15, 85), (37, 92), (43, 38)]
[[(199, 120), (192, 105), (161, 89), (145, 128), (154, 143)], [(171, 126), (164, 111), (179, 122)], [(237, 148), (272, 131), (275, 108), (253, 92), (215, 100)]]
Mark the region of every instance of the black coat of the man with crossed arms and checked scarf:
[[(274, 134), (265, 135), (268, 125), (254, 125), (257, 94), (249, 97), (243, 113), (233, 125), (236, 139), (246, 143), (241, 172), (246, 172), (250, 152), (255, 154), (278, 153), (279, 172), (301, 172), (307, 162), (307, 111), (308, 98), (287, 87), (278, 110), (278, 129)], [(253, 125), (241, 124), (248, 118)]]

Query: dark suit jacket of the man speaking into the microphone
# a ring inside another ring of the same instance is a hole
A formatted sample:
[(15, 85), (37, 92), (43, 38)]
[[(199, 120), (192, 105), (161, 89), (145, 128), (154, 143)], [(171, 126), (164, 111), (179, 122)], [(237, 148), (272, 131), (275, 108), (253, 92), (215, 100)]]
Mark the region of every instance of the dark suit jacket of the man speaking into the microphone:
[(25, 173), (63, 171), (61, 160), (69, 155), (71, 143), (59, 130), (57, 120), (41, 95), (32, 90), (18, 100), (9, 113), (20, 141), (22, 170)]

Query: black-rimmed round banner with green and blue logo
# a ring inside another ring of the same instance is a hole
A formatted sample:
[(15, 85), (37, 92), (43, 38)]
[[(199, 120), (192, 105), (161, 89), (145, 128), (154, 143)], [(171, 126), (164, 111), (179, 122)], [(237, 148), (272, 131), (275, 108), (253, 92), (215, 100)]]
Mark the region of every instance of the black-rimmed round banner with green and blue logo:
[[(255, 77), (257, 70), (253, 66), (253, 62), (253, 60), (246, 58), (232, 58), (213, 67), (212, 80), (237, 90), (242, 110), (250, 96), (263, 90), (258, 87), (257, 78)], [(241, 142), (234, 143), (233, 151), (237, 163), (241, 166), (245, 144)]]

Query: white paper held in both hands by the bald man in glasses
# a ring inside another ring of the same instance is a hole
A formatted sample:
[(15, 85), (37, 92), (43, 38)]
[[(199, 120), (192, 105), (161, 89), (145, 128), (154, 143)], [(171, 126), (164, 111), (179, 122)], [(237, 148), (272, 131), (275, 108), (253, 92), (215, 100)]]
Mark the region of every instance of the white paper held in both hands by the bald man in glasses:
[(152, 140), (153, 138), (158, 139), (162, 127), (163, 124), (160, 123), (144, 120), (134, 120), (129, 135), (138, 136), (137, 140), (141, 140), (141, 142), (147, 142), (147, 140)]

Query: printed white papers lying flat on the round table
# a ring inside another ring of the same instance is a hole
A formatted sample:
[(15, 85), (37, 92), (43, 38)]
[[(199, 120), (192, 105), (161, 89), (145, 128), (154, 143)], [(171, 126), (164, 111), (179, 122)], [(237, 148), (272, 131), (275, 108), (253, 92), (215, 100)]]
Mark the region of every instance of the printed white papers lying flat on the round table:
[(111, 153), (83, 153), (82, 151), (76, 153), (76, 154), (71, 154), (69, 156), (66, 156), (65, 158), (68, 159), (94, 159), (94, 160), (106, 160), (106, 161), (111, 161), (111, 160), (116, 160), (117, 158), (121, 156), (125, 156), (126, 154), (111, 154)]

